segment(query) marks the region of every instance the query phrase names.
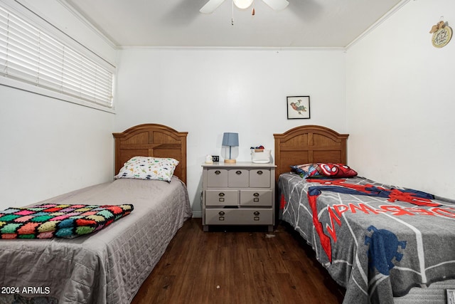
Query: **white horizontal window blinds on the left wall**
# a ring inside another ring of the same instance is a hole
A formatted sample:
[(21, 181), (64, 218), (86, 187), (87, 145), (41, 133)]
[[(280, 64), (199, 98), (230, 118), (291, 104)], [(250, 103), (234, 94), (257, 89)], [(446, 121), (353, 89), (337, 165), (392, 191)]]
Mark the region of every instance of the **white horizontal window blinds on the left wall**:
[(110, 70), (1, 6), (0, 77), (112, 108)]

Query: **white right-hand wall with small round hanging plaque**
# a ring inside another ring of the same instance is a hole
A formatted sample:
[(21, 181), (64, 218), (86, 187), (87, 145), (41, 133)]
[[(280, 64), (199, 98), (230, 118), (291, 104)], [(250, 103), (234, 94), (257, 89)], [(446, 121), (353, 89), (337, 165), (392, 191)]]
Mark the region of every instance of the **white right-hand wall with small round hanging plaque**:
[(455, 198), (455, 1), (410, 1), (347, 52), (348, 161), (360, 175)]

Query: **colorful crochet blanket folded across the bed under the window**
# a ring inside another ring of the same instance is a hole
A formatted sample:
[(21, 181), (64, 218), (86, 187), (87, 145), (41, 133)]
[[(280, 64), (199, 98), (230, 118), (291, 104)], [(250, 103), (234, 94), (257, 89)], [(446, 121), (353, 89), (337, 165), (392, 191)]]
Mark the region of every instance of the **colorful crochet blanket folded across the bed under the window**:
[(105, 228), (133, 211), (132, 204), (40, 204), (0, 211), (1, 239), (73, 239)]

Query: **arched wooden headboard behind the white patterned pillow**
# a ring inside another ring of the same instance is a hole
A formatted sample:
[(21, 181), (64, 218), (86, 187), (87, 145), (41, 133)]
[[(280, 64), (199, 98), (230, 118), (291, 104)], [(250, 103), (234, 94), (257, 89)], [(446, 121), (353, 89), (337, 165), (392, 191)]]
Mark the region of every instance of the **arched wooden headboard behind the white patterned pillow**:
[(115, 137), (115, 174), (123, 164), (135, 156), (171, 157), (178, 160), (173, 172), (186, 184), (186, 135), (171, 127), (158, 124), (144, 124), (130, 127)]

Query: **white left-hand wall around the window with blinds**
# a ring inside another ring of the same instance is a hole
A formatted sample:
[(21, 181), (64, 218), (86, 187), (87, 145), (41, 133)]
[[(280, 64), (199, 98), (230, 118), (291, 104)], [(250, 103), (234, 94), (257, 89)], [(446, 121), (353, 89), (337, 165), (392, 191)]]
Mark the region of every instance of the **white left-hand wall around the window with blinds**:
[[(59, 20), (62, 23), (55, 25), (67, 28), (73, 38), (114, 63), (114, 48), (90, 33), (60, 2), (22, 2), (45, 19)], [(21, 8), (15, 1), (5, 3)], [(0, 85), (0, 209), (112, 180), (114, 118), (111, 113)]]

